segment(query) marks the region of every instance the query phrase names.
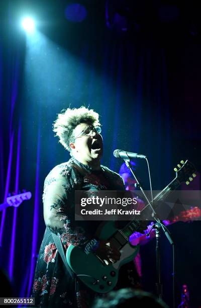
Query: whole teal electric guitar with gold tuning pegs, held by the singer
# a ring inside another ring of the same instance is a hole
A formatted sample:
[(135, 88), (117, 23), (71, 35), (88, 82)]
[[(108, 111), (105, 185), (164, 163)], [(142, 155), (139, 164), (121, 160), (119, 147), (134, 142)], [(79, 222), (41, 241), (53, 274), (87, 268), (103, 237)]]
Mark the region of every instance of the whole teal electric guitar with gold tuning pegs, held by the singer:
[[(177, 166), (178, 169), (174, 168), (176, 177), (154, 198), (154, 201), (163, 200), (171, 190), (175, 190), (182, 182), (188, 185), (196, 176), (195, 168), (189, 161), (185, 163), (181, 161), (181, 165)], [(98, 228), (96, 236), (100, 240), (111, 242), (121, 252), (120, 260), (106, 264), (95, 253), (87, 255), (81, 248), (71, 244), (66, 251), (66, 261), (69, 267), (93, 291), (99, 293), (111, 291), (117, 284), (120, 267), (132, 261), (139, 251), (139, 245), (130, 244), (130, 235), (134, 232), (142, 233), (147, 223), (147, 221), (132, 220), (124, 228), (118, 229), (115, 221), (105, 222), (103, 227)]]

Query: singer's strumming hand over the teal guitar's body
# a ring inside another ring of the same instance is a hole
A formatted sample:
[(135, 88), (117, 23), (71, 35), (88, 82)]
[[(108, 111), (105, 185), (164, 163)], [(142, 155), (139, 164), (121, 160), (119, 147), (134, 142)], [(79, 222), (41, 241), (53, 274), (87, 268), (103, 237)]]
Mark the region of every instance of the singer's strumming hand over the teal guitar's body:
[(106, 261), (108, 264), (115, 263), (120, 260), (120, 251), (112, 245), (108, 240), (100, 240), (95, 254), (100, 259)]

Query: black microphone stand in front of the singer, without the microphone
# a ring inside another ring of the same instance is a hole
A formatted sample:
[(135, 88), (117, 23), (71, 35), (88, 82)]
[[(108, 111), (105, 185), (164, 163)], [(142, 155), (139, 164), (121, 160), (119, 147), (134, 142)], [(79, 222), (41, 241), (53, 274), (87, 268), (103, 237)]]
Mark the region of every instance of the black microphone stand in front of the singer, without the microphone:
[[(173, 245), (173, 241), (170, 238), (170, 234), (169, 234), (168, 229), (165, 227), (165, 225), (158, 218), (156, 218), (156, 212), (155, 212), (155, 210), (153, 209), (153, 206), (152, 206), (153, 204), (151, 205), (151, 203), (148, 200), (147, 196), (145, 195), (144, 190), (143, 190), (142, 186), (140, 185), (134, 171), (132, 170), (132, 165), (130, 163), (130, 159), (128, 158), (128, 160), (125, 159), (124, 161), (126, 163), (126, 166), (130, 169), (132, 175), (134, 176), (134, 178), (137, 182), (137, 187), (140, 188), (140, 190), (142, 191), (145, 199), (147, 200), (148, 204), (150, 205), (150, 207), (153, 211), (153, 213), (152, 213), (153, 219), (156, 220), (156, 223), (153, 224), (153, 226), (152, 226), (150, 232), (147, 234), (147, 236), (150, 235), (150, 233), (152, 232), (152, 229), (156, 230), (156, 274), (157, 274), (156, 294), (159, 298), (159, 301), (161, 301), (162, 300), (162, 289), (163, 288), (162, 288), (162, 283), (161, 283), (161, 268), (160, 268), (160, 264), (161, 264), (161, 262), (160, 262), (160, 242), (159, 242), (160, 230), (161, 229), (163, 230), (163, 232), (164, 232), (165, 236), (167, 237), (170, 245)], [(173, 273), (173, 275), (174, 275), (174, 273)]]

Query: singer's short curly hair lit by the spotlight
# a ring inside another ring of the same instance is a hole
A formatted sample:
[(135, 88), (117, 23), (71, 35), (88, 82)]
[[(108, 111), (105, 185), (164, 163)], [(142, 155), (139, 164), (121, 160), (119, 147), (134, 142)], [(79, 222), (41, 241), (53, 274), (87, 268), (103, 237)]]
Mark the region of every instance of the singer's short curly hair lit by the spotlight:
[(53, 131), (56, 133), (55, 136), (59, 137), (59, 142), (68, 151), (71, 151), (69, 143), (73, 139), (73, 131), (80, 123), (100, 126), (99, 115), (93, 109), (88, 109), (84, 106), (80, 108), (68, 108), (66, 110), (63, 109), (53, 123)]

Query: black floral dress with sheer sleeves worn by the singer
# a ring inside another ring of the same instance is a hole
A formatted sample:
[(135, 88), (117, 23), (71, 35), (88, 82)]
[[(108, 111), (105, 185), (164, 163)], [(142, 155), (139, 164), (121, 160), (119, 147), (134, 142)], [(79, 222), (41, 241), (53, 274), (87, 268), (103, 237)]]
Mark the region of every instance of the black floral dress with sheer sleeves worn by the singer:
[[(74, 220), (75, 190), (124, 190), (123, 179), (107, 167), (92, 171), (86, 165), (71, 158), (56, 166), (46, 177), (43, 204), (46, 230), (37, 261), (32, 297), (35, 306), (41, 307), (90, 307), (95, 294), (80, 281), (75, 284), (66, 270), (56, 249), (52, 234), (61, 238), (65, 249), (70, 244), (79, 247), (94, 238), (97, 221)], [(98, 222), (100, 223), (100, 222)], [(133, 284), (135, 275), (128, 281)], [(129, 278), (131, 277), (131, 278)], [(127, 285), (124, 285), (127, 286)]]

